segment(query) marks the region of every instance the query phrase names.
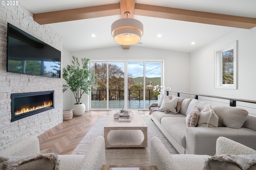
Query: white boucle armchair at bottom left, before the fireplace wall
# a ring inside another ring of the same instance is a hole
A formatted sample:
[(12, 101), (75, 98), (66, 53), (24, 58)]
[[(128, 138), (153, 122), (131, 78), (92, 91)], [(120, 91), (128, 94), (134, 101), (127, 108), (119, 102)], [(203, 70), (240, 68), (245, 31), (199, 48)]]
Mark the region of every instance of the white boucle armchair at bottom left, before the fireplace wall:
[[(9, 160), (15, 159), (30, 159), (33, 156), (44, 155), (40, 153), (39, 140), (37, 137), (30, 137), (21, 141), (17, 145), (8, 147), (0, 151), (0, 169), (4, 162), (3, 158), (8, 157)], [(92, 145), (86, 152), (86, 155), (54, 155), (56, 158), (55, 169), (58, 170), (101, 170), (105, 162), (105, 144), (104, 138), (98, 136), (94, 139)], [(29, 157), (29, 158), (27, 158)], [(48, 154), (49, 157), (49, 154)], [(50, 155), (52, 158), (52, 155)], [(46, 161), (46, 160), (43, 160)], [(12, 162), (12, 161), (10, 161)], [(46, 162), (47, 163), (47, 162)], [(45, 165), (46, 163), (42, 163)], [(39, 166), (38, 163), (34, 163)], [(41, 164), (41, 163), (40, 163)], [(15, 166), (15, 165), (14, 165)], [(29, 165), (31, 166), (31, 165)], [(34, 166), (34, 165), (33, 165)], [(52, 166), (51, 166), (52, 167)], [(29, 168), (37, 169), (37, 168)], [(49, 168), (44, 168), (50, 170)], [(51, 168), (52, 169), (52, 168)]]

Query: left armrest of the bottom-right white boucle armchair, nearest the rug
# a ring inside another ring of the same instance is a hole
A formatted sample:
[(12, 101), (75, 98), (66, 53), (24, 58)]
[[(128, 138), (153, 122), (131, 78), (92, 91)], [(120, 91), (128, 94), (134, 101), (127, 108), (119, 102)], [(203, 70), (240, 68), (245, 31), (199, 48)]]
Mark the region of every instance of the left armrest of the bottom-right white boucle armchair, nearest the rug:
[(150, 141), (150, 164), (158, 170), (174, 170), (172, 156), (158, 137), (152, 137)]

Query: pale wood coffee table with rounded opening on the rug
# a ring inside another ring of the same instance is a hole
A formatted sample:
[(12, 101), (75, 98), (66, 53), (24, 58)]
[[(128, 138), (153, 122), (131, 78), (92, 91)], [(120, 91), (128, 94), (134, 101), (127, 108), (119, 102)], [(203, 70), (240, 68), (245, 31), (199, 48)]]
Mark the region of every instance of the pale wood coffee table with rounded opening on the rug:
[(106, 148), (134, 148), (148, 146), (148, 127), (145, 125), (140, 113), (132, 111), (131, 121), (118, 121), (114, 119), (115, 110), (111, 111), (104, 126), (104, 139)]

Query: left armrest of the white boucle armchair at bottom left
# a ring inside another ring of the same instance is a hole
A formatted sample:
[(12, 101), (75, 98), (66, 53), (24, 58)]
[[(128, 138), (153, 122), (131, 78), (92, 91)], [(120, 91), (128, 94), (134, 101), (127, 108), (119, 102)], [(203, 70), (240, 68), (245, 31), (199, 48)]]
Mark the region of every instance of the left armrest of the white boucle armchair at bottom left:
[(31, 156), (40, 154), (39, 140), (37, 137), (30, 137), (16, 145), (1, 150), (0, 154), (6, 156)]

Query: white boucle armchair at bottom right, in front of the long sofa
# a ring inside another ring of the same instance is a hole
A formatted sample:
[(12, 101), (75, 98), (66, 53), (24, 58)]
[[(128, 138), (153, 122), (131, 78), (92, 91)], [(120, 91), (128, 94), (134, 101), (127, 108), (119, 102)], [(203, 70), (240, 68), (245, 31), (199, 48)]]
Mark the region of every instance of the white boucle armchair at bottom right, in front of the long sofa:
[[(234, 162), (240, 163), (238, 158), (245, 156), (246, 159), (243, 159), (242, 165), (234, 164)], [(219, 137), (216, 142), (215, 156), (170, 154), (162, 141), (153, 137), (150, 141), (150, 164), (155, 165), (158, 170), (255, 170), (256, 150), (226, 137)]]

